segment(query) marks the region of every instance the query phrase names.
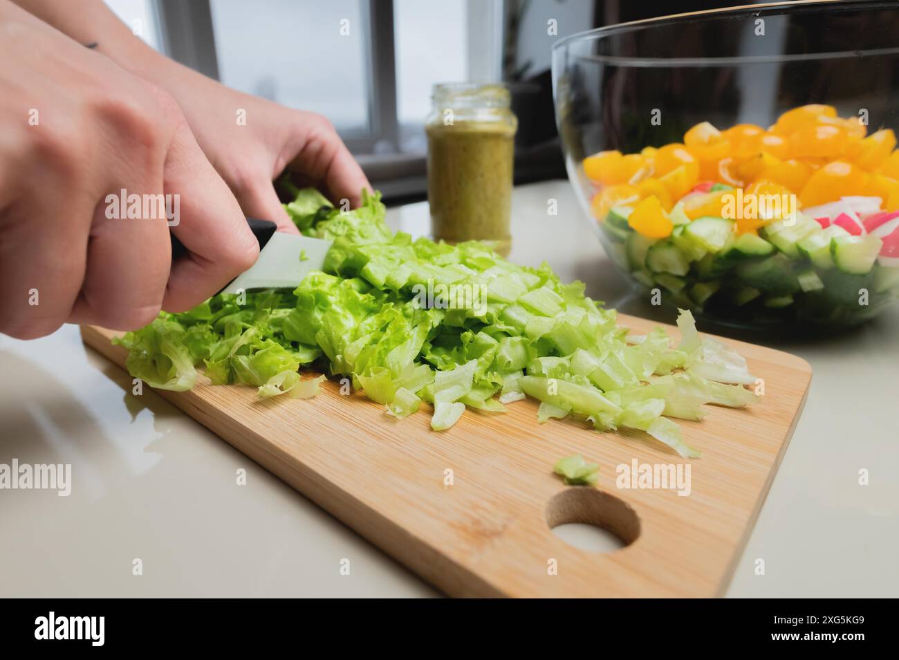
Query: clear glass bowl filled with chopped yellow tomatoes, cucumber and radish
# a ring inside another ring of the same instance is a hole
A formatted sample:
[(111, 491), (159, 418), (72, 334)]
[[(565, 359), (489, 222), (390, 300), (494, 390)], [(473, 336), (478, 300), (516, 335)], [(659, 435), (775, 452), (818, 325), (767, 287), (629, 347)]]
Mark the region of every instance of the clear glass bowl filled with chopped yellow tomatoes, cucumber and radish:
[(896, 3), (817, 2), (557, 42), (568, 175), (619, 270), (654, 304), (749, 329), (842, 328), (894, 303), (896, 34)]

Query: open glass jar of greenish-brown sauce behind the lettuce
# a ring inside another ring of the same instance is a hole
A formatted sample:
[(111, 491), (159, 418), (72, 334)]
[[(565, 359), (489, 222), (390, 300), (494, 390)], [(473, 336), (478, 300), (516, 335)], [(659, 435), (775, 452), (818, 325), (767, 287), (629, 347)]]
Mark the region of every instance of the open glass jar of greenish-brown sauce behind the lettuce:
[(436, 240), (486, 240), (509, 254), (513, 140), (518, 120), (503, 85), (434, 85), (428, 201)]

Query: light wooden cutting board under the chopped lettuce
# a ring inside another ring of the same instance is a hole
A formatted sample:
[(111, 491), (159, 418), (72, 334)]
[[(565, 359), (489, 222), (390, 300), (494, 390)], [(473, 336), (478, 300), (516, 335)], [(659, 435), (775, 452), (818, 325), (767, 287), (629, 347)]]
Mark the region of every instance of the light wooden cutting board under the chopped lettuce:
[[(644, 333), (650, 321), (619, 316)], [(678, 336), (676, 328), (666, 328)], [(85, 343), (122, 366), (114, 332)], [(430, 407), (402, 421), (326, 382), (314, 399), (263, 401), (254, 388), (157, 390), (237, 450), (456, 596), (715, 596), (724, 593), (806, 401), (812, 371), (794, 355), (725, 340), (764, 380), (757, 406), (706, 406), (684, 422), (702, 451), (681, 459), (642, 433), (537, 422), (532, 401), (501, 415), (469, 411), (447, 432)], [(599, 488), (565, 486), (552, 466), (574, 453), (600, 464)], [(616, 485), (617, 467), (690, 465), (690, 495)], [(451, 472), (449, 472), (451, 470)], [(451, 485), (448, 482), (451, 477)], [(592, 522), (623, 549), (576, 549), (550, 526)]]

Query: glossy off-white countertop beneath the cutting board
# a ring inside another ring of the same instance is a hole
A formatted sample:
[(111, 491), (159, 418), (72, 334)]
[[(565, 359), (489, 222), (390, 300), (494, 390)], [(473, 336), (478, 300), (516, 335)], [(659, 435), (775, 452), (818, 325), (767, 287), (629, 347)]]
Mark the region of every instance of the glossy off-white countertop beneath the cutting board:
[[(629, 294), (567, 182), (517, 188), (512, 215), (512, 261), (546, 260), (594, 299), (658, 317)], [(424, 203), (388, 219), (428, 230)], [(805, 358), (814, 377), (727, 595), (895, 596), (899, 308), (850, 334), (770, 345)], [(33, 342), (0, 335), (0, 464), (72, 465), (68, 497), (0, 490), (0, 596), (436, 594), (155, 393), (130, 388), (76, 327)], [(753, 570), (760, 557), (765, 575)]]

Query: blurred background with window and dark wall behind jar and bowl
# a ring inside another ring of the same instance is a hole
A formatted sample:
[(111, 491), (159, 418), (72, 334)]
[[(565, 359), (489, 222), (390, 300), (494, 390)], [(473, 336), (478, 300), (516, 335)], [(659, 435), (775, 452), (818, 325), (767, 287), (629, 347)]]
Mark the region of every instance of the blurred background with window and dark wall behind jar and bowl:
[(324, 114), (385, 201), (426, 197), (435, 83), (502, 81), (519, 118), (515, 183), (565, 178), (552, 44), (726, 0), (106, 0), (153, 48), (249, 94)]

